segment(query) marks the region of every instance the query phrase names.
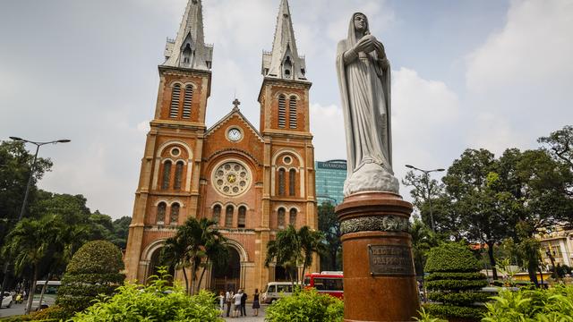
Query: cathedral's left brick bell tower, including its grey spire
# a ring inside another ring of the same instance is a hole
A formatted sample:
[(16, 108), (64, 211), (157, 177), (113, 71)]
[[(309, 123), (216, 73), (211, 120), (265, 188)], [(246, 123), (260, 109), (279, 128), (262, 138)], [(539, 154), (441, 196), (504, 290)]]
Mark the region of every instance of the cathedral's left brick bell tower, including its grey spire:
[(204, 42), (201, 0), (189, 0), (176, 38), (167, 38), (166, 61), (158, 66), (158, 99), (125, 254), (128, 280), (146, 281), (158, 256), (153, 241), (174, 235), (177, 225), (197, 216), (212, 55), (213, 47)]

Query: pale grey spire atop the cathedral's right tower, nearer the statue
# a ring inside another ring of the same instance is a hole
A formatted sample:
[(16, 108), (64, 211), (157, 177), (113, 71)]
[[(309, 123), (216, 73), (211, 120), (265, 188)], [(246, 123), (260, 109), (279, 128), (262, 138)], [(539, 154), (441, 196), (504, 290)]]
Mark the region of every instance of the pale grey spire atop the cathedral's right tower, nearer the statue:
[(288, 0), (281, 0), (277, 29), (270, 53), (262, 53), (262, 75), (283, 80), (306, 80), (306, 63), (296, 50), (295, 31)]

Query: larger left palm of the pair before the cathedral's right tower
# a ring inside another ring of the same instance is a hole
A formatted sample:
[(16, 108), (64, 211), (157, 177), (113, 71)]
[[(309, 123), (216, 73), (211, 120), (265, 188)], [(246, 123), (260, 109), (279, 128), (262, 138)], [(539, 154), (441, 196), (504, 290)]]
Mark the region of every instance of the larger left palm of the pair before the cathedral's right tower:
[[(295, 282), (291, 275), (291, 270), (296, 268), (303, 258), (298, 232), (293, 225), (288, 225), (285, 230), (277, 233), (277, 238), (267, 244), (267, 258), (265, 266), (269, 267), (272, 261), (276, 261), (278, 266), (285, 267), (288, 279)], [(298, 281), (298, 275), (296, 275)]]

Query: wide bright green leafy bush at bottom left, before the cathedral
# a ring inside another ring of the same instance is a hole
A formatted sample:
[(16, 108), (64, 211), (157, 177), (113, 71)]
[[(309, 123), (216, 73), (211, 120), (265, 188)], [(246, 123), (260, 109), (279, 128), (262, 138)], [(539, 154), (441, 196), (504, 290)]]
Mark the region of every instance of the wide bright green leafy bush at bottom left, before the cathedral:
[(169, 275), (161, 270), (161, 278), (155, 277), (147, 287), (125, 284), (118, 292), (98, 300), (90, 308), (73, 317), (74, 322), (135, 322), (135, 321), (190, 321), (216, 322), (220, 311), (215, 304), (215, 295), (201, 291), (189, 296), (183, 287), (168, 286)]

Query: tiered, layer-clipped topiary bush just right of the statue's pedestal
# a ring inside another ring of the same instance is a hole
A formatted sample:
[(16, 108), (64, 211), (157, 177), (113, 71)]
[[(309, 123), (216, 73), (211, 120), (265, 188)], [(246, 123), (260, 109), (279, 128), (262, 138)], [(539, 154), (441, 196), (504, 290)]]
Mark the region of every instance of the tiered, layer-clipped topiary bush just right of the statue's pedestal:
[(424, 305), (433, 317), (479, 321), (490, 294), (479, 292), (488, 282), (479, 273), (479, 262), (466, 246), (445, 243), (428, 253), (425, 271), (428, 299)]

